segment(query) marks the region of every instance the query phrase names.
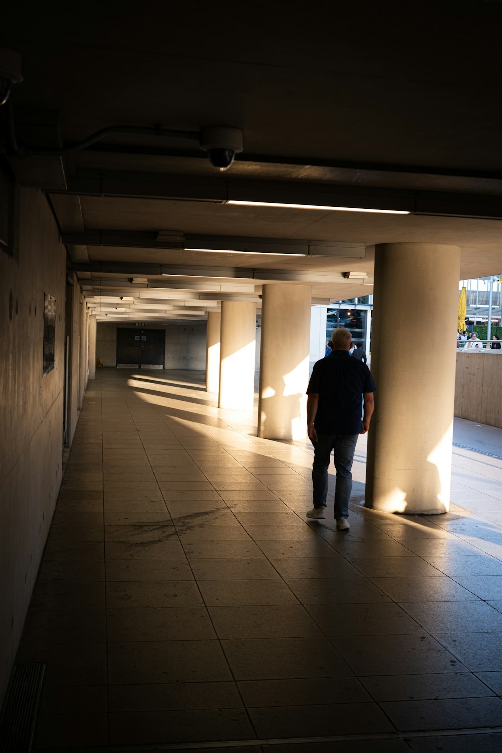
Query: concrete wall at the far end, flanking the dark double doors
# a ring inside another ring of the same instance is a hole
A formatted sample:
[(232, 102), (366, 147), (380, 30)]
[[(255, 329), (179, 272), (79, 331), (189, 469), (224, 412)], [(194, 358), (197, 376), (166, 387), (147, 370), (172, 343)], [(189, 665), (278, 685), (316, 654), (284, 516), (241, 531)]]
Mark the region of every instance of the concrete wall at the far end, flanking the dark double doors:
[[(122, 322), (98, 322), (96, 358), (101, 357), (105, 366), (117, 366), (117, 328), (127, 326)], [(189, 371), (205, 370), (205, 328), (205, 322), (165, 326), (148, 323), (145, 327), (166, 331), (164, 368)]]

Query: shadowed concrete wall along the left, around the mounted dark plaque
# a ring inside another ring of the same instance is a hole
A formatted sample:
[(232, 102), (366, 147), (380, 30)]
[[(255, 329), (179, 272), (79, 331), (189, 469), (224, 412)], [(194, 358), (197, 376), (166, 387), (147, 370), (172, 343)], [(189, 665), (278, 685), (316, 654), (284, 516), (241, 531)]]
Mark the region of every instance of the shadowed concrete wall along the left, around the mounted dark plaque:
[[(0, 700), (62, 475), (65, 248), (46, 198), (20, 191), (19, 244), (0, 251)], [(56, 298), (55, 366), (42, 375), (44, 293)]]

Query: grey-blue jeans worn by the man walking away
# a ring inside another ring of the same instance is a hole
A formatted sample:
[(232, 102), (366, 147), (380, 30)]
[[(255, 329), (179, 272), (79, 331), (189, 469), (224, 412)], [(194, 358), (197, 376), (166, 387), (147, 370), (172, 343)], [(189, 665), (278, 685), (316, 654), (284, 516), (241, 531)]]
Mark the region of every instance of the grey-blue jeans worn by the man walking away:
[(348, 517), (348, 502), (352, 491), (352, 463), (359, 434), (318, 434), (314, 444), (312, 484), (314, 486), (314, 507), (326, 507), (327, 468), (333, 450), (336, 468), (335, 518)]

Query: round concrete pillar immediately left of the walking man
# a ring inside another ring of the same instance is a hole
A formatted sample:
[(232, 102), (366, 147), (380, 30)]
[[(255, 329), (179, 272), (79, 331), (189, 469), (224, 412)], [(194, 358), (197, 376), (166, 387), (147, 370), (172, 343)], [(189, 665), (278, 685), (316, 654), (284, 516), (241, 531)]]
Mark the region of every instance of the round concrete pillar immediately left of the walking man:
[(259, 437), (306, 437), (311, 302), (311, 285), (263, 285)]

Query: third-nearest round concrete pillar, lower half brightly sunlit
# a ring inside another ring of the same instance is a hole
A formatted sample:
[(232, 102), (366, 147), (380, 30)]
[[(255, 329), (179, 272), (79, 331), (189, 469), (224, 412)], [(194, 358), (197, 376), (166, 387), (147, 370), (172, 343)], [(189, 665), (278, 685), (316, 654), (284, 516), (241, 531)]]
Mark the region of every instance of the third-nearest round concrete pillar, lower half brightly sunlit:
[(252, 408), (256, 303), (221, 303), (220, 408)]

